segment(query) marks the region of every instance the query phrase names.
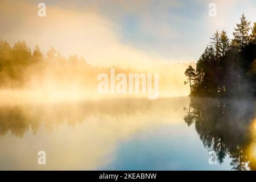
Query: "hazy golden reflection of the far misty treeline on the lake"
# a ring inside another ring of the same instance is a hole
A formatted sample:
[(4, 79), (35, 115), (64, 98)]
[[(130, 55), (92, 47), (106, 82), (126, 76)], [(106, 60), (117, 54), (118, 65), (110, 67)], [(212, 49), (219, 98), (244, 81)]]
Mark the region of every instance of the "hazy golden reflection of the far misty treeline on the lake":
[(124, 118), (129, 118), (130, 125), (134, 121), (159, 119), (159, 115), (163, 119), (175, 120), (183, 114), (180, 104), (187, 105), (187, 102), (187, 97), (171, 100), (160, 98), (157, 101), (147, 98), (111, 98), (56, 104), (4, 105), (0, 106), (0, 136), (11, 131), (14, 137), (22, 138), (30, 129), (36, 134), (42, 125), (52, 131), (64, 123), (76, 126), (92, 116), (102, 120), (111, 117), (121, 123)]

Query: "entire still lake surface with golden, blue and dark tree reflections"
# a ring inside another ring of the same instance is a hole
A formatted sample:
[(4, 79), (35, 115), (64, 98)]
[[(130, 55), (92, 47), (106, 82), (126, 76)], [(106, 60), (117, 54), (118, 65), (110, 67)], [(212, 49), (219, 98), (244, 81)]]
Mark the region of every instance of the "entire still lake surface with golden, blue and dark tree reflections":
[(189, 97), (2, 105), (0, 169), (255, 169), (254, 117), (252, 101)]

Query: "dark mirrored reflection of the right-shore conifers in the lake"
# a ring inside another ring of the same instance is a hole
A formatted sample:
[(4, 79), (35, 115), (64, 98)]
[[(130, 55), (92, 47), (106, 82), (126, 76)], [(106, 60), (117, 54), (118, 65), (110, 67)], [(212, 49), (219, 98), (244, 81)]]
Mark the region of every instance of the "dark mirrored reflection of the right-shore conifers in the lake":
[(216, 152), (220, 164), (229, 156), (233, 170), (256, 169), (254, 101), (192, 97), (184, 110), (184, 121), (195, 124), (204, 147)]

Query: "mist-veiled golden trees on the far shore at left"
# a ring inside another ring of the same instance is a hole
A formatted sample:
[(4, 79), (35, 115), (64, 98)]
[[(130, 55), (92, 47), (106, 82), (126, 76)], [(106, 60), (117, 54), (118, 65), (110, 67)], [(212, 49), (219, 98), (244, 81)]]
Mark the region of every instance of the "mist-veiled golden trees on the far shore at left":
[[(28, 82), (72, 80), (81, 70), (89, 70), (91, 66), (82, 57), (61, 56), (55, 48), (51, 47), (44, 56), (39, 46), (34, 51), (26, 42), (19, 41), (10, 46), (6, 41), (0, 41), (0, 87), (22, 88)], [(84, 74), (86, 74), (85, 72)], [(86, 75), (84, 75), (86, 78)]]

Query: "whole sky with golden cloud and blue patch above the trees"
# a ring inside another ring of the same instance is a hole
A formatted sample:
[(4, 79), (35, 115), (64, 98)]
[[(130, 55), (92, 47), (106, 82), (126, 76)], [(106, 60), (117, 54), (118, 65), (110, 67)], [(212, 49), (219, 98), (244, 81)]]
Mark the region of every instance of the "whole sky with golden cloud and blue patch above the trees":
[[(38, 4), (46, 4), (46, 17)], [(216, 3), (217, 16), (208, 15)], [(233, 28), (245, 13), (256, 22), (253, 0), (1, 0), (0, 40), (25, 40), (44, 53), (53, 46), (94, 65), (197, 61), (216, 30)], [(252, 23), (251, 23), (252, 24)]]

